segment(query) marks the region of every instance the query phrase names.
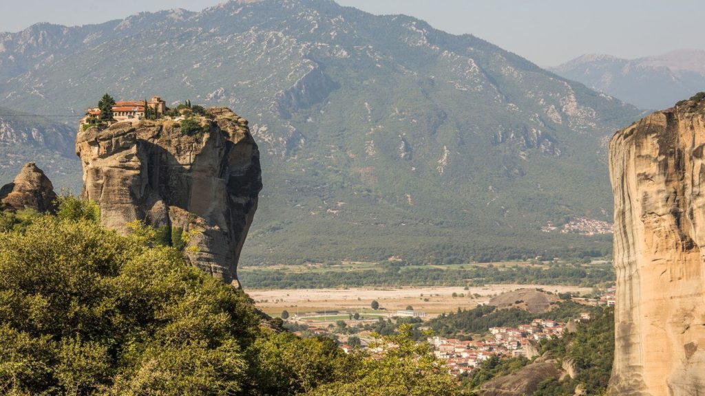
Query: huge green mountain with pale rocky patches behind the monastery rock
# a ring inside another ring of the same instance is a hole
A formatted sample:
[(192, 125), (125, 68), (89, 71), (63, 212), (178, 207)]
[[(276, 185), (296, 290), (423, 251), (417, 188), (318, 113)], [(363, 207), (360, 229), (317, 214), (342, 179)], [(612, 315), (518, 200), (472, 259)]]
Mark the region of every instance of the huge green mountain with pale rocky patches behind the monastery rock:
[[(264, 189), (245, 266), (606, 253), (608, 237), (541, 228), (611, 221), (606, 142), (642, 115), (478, 37), (328, 0), (0, 34), (0, 106), (61, 116), (49, 135), (75, 130), (105, 92), (223, 105), (249, 120)], [(16, 168), (37, 161), (80, 188), (71, 149), (24, 139), (36, 149)]]

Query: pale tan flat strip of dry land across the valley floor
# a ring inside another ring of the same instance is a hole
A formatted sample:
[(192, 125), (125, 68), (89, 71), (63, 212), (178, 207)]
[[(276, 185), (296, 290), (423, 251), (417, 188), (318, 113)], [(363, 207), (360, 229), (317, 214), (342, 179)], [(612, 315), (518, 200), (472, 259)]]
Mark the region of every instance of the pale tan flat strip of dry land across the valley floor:
[[(373, 300), (381, 309), (396, 311), (412, 306), (416, 311), (436, 315), (471, 309), (486, 303), (494, 295), (522, 288), (537, 287), (547, 292), (589, 293), (591, 288), (579, 286), (548, 285), (486, 285), (482, 287), (361, 287), (349, 289), (245, 289), (257, 307), (267, 314), (278, 315), (286, 309), (289, 314), (305, 314), (315, 311), (360, 311), (369, 312)], [(453, 297), (453, 293), (457, 297)], [(476, 295), (479, 295), (477, 297)]]

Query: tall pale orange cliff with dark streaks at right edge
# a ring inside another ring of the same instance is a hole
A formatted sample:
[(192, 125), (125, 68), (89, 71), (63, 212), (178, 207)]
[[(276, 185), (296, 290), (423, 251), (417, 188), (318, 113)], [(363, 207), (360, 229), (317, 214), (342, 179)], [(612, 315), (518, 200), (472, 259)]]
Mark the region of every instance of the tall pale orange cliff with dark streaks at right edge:
[(617, 273), (611, 395), (705, 392), (704, 106), (679, 102), (610, 142)]

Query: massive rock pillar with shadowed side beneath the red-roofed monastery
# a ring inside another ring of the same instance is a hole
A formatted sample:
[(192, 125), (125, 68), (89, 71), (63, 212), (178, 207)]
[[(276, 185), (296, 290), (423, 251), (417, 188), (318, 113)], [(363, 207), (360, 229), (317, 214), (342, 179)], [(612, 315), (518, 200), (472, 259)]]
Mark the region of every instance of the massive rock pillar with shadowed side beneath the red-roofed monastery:
[(238, 285), (240, 249), (262, 189), (259, 150), (247, 120), (225, 108), (196, 117), (186, 131), (178, 120), (116, 123), (79, 130), (83, 196), (99, 204), (101, 222), (125, 232), (145, 221), (178, 245), (190, 235), (188, 259)]

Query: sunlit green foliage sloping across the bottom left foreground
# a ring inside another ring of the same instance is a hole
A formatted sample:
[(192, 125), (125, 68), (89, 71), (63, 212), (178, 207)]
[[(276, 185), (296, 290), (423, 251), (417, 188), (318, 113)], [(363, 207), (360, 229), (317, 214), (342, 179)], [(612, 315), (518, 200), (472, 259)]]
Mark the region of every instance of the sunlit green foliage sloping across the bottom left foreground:
[(56, 216), (2, 213), (1, 394), (456, 394), (408, 330), (382, 338), (396, 347), (379, 359), (297, 338), (157, 230), (121, 236), (94, 209), (62, 197)]

